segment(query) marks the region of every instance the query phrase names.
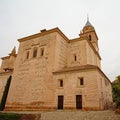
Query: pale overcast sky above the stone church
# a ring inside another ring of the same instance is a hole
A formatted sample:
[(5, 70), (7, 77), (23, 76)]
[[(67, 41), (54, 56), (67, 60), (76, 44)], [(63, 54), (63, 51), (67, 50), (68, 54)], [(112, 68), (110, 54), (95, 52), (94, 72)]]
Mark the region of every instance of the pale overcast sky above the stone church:
[(44, 28), (59, 27), (76, 38), (88, 14), (99, 38), (102, 70), (112, 81), (120, 75), (119, 12), (120, 0), (0, 0), (0, 57), (18, 49), (17, 39)]

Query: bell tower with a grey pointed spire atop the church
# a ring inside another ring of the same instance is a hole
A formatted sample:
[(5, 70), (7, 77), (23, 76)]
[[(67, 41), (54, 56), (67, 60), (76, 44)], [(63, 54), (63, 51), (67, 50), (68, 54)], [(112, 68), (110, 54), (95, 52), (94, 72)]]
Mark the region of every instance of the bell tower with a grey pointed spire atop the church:
[(89, 22), (89, 18), (87, 17), (87, 22), (85, 26), (83, 27), (80, 37), (87, 37), (88, 40), (92, 43), (94, 46), (95, 50), (99, 52), (98, 48), (98, 36), (96, 34), (96, 31), (93, 27), (93, 25)]

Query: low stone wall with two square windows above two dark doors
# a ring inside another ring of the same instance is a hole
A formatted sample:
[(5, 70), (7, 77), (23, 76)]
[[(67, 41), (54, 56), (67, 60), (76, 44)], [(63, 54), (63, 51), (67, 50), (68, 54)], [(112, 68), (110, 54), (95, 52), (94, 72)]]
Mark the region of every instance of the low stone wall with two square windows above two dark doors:
[[(104, 109), (105, 104), (108, 106), (112, 102), (111, 95), (111, 86), (109, 85), (103, 87), (103, 94), (106, 95), (105, 91), (107, 91), (108, 95), (104, 97), (106, 103), (100, 103), (101, 96), (100, 92), (102, 92), (99, 87), (100, 78), (103, 78), (103, 75), (99, 74), (96, 70), (83, 70), (83, 71), (73, 71), (66, 73), (56, 73), (54, 75), (54, 81), (56, 83), (56, 96), (54, 102), (57, 106), (57, 97), (59, 95), (64, 96), (64, 109), (76, 109), (76, 95), (82, 95), (82, 108), (86, 110), (100, 110)], [(84, 79), (84, 85), (80, 85), (79, 78)], [(63, 80), (63, 87), (59, 86), (59, 80)], [(110, 83), (109, 83), (110, 84)], [(106, 89), (106, 90), (105, 90)]]

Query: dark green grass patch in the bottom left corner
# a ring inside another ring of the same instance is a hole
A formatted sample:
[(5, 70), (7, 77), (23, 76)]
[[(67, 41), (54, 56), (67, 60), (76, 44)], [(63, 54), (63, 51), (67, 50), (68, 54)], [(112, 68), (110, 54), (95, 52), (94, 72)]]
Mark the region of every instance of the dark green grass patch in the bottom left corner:
[(15, 113), (0, 113), (0, 120), (20, 120), (20, 115)]

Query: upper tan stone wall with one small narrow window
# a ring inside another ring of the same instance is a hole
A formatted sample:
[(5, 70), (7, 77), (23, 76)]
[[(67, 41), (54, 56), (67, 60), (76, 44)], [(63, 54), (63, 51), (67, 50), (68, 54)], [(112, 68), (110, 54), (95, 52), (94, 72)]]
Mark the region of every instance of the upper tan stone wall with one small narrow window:
[(87, 59), (86, 59), (86, 42), (85, 42), (85, 40), (71, 42), (69, 44), (68, 55), (67, 55), (68, 67), (85, 65), (86, 62), (87, 62)]

